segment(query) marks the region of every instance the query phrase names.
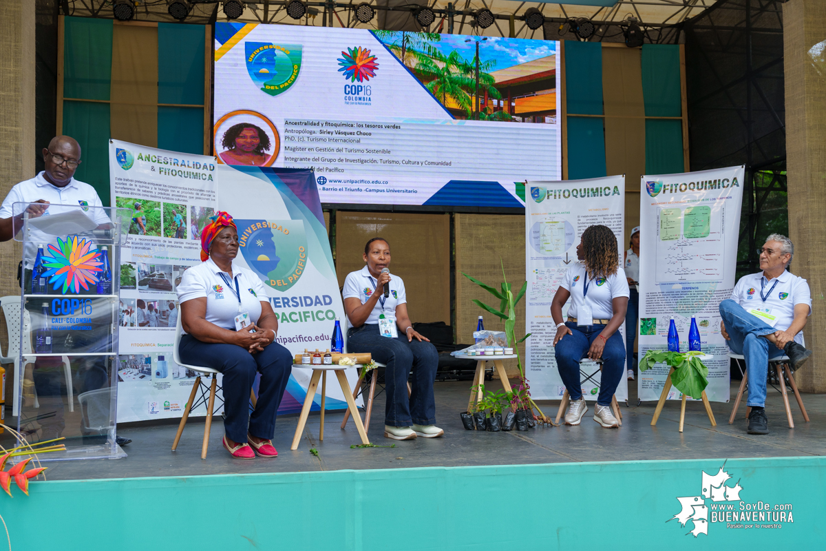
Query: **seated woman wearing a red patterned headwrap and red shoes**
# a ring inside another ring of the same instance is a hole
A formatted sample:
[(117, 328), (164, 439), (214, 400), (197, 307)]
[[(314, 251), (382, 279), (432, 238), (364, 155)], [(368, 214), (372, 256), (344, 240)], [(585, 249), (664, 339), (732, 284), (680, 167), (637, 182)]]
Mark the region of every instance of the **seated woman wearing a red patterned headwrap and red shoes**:
[[(275, 416), (292, 371), (292, 354), (274, 342), (278, 317), (261, 279), (234, 262), (238, 231), (232, 216), (219, 211), (201, 232), (202, 264), (183, 273), (178, 284), (181, 361), (217, 369), (224, 375), (224, 429), (221, 444), (238, 459), (275, 457)], [(261, 373), (255, 411), (249, 392)], [(249, 425), (249, 428), (248, 428)], [(251, 446), (251, 447), (250, 447)]]

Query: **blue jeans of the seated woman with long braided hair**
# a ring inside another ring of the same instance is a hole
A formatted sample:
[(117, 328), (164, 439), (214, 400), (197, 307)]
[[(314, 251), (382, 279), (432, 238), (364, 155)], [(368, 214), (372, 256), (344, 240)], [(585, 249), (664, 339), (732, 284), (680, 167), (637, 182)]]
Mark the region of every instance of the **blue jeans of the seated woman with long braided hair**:
[[(563, 379), (571, 400), (582, 398), (582, 382), (580, 381), (579, 362), (582, 356), (588, 354), (591, 343), (596, 340), (605, 325), (577, 325), (573, 321), (565, 323), (572, 335), (565, 335), (557, 343), (554, 355), (557, 359), (559, 377)], [(602, 375), (600, 396), (596, 403), (600, 406), (610, 406), (611, 398), (619, 386), (619, 381), (625, 373), (625, 347), (622, 344), (622, 335), (615, 331), (608, 337), (605, 349), (602, 350)]]

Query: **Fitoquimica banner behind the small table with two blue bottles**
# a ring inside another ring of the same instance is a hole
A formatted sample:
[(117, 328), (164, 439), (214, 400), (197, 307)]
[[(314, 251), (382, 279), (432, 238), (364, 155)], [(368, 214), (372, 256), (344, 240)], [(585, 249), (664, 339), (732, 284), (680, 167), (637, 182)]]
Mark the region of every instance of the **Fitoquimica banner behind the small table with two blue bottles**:
[[(737, 264), (743, 167), (643, 176), (640, 193), (639, 357), (668, 348), (674, 318), (681, 351), (691, 317), (700, 329), (709, 368), (705, 393), (729, 401), (729, 347), (720, 335), (719, 303), (731, 296)], [(639, 373), (640, 400), (658, 400), (668, 366)], [(672, 387), (668, 398), (681, 392)], [(686, 397), (691, 400), (691, 397)]]

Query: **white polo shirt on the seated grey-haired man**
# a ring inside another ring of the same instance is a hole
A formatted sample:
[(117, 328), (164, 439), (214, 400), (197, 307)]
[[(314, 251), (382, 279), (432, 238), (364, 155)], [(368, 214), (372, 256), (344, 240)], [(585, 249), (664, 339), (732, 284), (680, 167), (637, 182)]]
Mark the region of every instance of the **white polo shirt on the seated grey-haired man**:
[[(763, 297), (766, 297), (765, 301)], [(731, 300), (743, 306), (746, 311), (752, 309), (768, 311), (767, 313), (776, 317), (773, 324), (760, 316), (757, 318), (777, 330), (789, 329), (789, 325), (795, 320), (795, 306), (798, 304), (809, 306), (809, 316), (812, 314), (812, 294), (809, 291), (809, 283), (788, 270), (771, 281), (767, 280), (762, 272), (743, 276), (734, 286)], [(795, 335), (795, 341), (802, 344), (802, 332)]]

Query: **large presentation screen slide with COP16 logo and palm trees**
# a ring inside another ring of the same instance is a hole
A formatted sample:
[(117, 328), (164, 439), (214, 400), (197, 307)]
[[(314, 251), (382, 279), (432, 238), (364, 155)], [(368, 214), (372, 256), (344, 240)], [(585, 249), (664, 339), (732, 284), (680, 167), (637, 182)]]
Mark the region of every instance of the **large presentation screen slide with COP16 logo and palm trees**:
[(526, 180), (562, 178), (557, 52), (550, 40), (219, 22), (216, 156), (314, 169), (323, 203), (524, 207)]

